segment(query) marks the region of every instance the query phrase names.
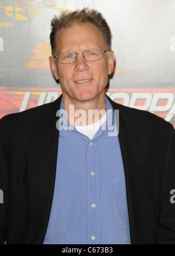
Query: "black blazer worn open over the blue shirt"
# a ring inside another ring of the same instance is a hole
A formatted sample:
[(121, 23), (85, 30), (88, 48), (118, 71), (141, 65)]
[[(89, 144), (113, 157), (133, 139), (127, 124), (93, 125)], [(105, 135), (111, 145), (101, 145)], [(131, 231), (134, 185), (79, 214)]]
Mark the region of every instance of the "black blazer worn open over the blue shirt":
[[(156, 115), (111, 101), (120, 111), (132, 244), (175, 244), (175, 131)], [(43, 244), (54, 193), (61, 97), (0, 120), (0, 240)]]

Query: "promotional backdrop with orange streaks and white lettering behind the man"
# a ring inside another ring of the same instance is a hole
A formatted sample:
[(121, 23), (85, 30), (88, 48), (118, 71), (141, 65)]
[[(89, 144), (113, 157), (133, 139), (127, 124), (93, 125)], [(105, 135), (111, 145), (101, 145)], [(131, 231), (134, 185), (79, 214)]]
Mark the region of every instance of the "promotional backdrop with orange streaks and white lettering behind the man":
[(100, 11), (116, 65), (106, 93), (175, 127), (174, 0), (0, 0), (0, 118), (55, 100), (50, 21), (60, 12)]

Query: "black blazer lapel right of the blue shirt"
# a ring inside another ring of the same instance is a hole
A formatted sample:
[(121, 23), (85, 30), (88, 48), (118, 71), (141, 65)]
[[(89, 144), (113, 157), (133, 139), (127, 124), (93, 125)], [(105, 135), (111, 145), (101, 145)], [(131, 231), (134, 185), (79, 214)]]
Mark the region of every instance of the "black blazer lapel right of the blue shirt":
[(110, 102), (114, 109), (119, 110), (118, 138), (125, 172), (131, 243), (135, 244), (140, 240), (138, 220), (146, 187), (148, 151), (143, 147), (141, 134), (125, 111), (125, 107)]

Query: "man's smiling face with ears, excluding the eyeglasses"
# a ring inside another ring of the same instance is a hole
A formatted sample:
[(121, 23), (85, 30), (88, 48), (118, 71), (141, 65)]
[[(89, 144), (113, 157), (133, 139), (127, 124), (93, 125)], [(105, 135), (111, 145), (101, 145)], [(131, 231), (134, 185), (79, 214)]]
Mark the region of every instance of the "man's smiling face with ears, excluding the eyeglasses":
[[(64, 52), (83, 53), (88, 49), (107, 50), (101, 39), (99, 30), (92, 23), (62, 28), (57, 36), (56, 55)], [(59, 79), (62, 95), (68, 104), (100, 100), (104, 97), (108, 75), (113, 72), (114, 54), (104, 53), (100, 60), (85, 60), (83, 54), (71, 64), (54, 63), (50, 57), (50, 67), (56, 79)]]

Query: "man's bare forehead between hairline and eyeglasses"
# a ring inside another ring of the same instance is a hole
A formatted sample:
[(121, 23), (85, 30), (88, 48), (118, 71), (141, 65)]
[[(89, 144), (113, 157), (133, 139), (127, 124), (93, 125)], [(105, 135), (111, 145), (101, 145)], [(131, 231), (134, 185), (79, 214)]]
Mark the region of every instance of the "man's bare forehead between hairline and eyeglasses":
[(56, 43), (57, 52), (105, 48), (99, 29), (90, 22), (61, 28)]

